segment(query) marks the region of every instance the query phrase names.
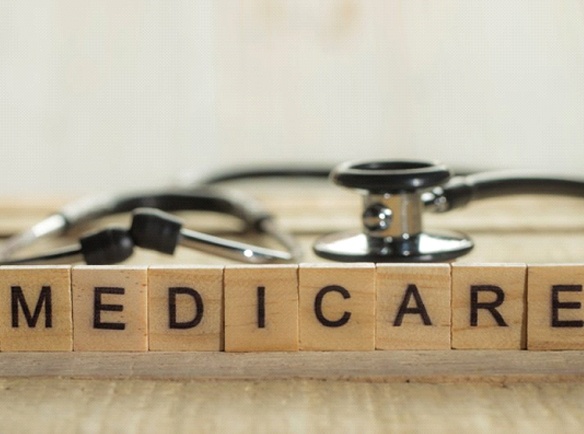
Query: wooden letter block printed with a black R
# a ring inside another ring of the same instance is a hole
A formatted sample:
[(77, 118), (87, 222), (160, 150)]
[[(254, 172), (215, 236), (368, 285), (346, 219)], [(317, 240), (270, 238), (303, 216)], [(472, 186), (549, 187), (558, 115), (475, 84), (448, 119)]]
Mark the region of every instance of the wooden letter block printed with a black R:
[(452, 348), (526, 348), (526, 266), (452, 265)]

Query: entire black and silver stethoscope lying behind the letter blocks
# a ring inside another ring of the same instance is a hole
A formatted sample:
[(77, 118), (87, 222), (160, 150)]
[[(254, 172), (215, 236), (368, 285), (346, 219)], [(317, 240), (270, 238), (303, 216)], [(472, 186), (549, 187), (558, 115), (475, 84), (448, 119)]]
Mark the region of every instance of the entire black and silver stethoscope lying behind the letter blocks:
[[(205, 184), (258, 177), (324, 177), (361, 193), (362, 228), (325, 235), (314, 252), (341, 262), (449, 261), (468, 253), (472, 240), (457, 232), (428, 232), (424, 212), (447, 212), (470, 202), (514, 194), (584, 197), (584, 180), (526, 172), (486, 172), (453, 176), (444, 165), (421, 161), (349, 162), (332, 172), (318, 169), (239, 171), (208, 179)], [(216, 237), (183, 227), (173, 211), (226, 213), (247, 229), (265, 234), (283, 250)], [(61, 236), (92, 220), (132, 212), (130, 228), (113, 227), (84, 235), (76, 245), (38, 256), (18, 257), (23, 248), (50, 236)], [(208, 185), (173, 191), (94, 197), (65, 206), (0, 247), (2, 264), (54, 264), (83, 260), (88, 264), (122, 262), (135, 246), (172, 254), (177, 245), (197, 248), (242, 262), (297, 262), (301, 250), (294, 237), (254, 200)]]

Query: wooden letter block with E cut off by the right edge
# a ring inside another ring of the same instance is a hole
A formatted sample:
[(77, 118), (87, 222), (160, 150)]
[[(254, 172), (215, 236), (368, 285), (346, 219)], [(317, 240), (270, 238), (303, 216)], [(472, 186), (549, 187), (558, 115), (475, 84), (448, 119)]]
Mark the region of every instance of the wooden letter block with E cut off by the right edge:
[(530, 265), (527, 348), (584, 350), (584, 265)]

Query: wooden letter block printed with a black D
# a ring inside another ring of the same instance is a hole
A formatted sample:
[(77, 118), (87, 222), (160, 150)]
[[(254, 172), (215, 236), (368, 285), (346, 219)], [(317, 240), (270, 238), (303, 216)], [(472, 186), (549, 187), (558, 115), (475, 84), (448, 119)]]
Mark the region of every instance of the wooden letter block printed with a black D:
[(221, 351), (223, 267), (148, 269), (151, 351)]

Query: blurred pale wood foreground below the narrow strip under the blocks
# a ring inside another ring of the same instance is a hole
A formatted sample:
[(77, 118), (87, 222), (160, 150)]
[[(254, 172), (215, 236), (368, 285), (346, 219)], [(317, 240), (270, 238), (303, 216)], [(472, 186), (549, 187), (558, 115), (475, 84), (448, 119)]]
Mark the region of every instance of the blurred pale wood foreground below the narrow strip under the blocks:
[(2, 378), (0, 431), (578, 433), (582, 401), (582, 383)]

